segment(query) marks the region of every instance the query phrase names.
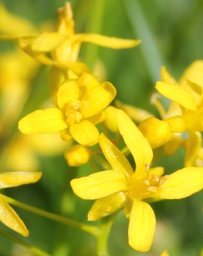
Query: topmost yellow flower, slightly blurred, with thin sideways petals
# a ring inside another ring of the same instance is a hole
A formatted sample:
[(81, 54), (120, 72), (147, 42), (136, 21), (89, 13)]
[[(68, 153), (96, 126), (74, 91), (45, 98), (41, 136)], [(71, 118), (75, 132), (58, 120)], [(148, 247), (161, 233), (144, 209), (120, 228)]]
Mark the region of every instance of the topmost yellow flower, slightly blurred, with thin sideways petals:
[[(30, 32), (31, 33), (31, 32)], [(81, 43), (89, 42), (112, 49), (132, 48), (140, 43), (140, 40), (111, 38), (100, 34), (76, 34), (74, 31), (73, 13), (70, 3), (58, 9), (58, 28), (56, 32), (44, 32), (38, 36), (9, 37), (1, 36), (0, 39), (18, 39), (20, 48), (35, 60), (59, 68), (69, 68), (76, 74), (87, 71), (83, 63), (75, 63), (78, 58)], [(46, 56), (51, 52), (52, 59)]]

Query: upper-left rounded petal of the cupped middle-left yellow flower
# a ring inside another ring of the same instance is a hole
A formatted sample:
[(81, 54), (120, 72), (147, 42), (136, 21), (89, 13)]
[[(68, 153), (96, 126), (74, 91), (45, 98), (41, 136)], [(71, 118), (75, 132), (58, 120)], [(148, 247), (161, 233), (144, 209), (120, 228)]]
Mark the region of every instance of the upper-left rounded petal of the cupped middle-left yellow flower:
[(66, 80), (61, 86), (59, 86), (56, 101), (58, 107), (63, 109), (66, 104), (72, 100), (77, 100), (79, 97), (79, 84), (77, 80)]

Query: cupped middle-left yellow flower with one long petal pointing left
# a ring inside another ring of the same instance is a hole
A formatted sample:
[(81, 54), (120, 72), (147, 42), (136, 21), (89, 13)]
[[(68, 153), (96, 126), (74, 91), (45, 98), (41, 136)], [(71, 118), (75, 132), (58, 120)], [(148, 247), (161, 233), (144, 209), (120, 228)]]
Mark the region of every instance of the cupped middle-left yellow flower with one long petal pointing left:
[(56, 108), (36, 110), (19, 121), (19, 130), (25, 134), (61, 131), (64, 141), (71, 137), (81, 145), (98, 142), (95, 124), (103, 121), (102, 110), (116, 95), (109, 82), (99, 81), (88, 73), (78, 79), (66, 80), (56, 94)]

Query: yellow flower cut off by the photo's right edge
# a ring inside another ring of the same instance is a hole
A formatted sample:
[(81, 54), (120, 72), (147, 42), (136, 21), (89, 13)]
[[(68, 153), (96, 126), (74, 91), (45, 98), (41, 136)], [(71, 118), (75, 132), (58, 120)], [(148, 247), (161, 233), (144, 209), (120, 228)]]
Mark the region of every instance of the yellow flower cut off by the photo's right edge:
[(172, 132), (203, 131), (202, 73), (202, 61), (194, 62), (177, 83), (166, 69), (162, 68), (163, 82), (157, 82), (156, 88), (160, 94), (172, 100), (170, 111), (165, 114), (165, 121), (171, 125)]

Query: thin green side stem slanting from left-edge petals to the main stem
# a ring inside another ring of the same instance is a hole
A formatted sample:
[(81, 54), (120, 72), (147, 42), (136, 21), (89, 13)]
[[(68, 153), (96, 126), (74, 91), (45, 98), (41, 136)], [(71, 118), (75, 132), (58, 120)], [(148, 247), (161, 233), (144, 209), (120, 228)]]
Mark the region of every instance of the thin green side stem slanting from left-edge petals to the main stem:
[(54, 213), (46, 212), (44, 210), (41, 210), (39, 208), (30, 206), (28, 204), (21, 203), (21, 202), (15, 200), (15, 199), (12, 199), (12, 198), (10, 198), (6, 195), (3, 195), (3, 197), (9, 204), (13, 204), (13, 205), (15, 205), (17, 207), (20, 207), (20, 208), (22, 208), (26, 211), (29, 211), (29, 212), (41, 215), (43, 217), (55, 220), (55, 222), (63, 223), (65, 225), (74, 226), (74, 227), (79, 228), (83, 231), (89, 232), (90, 234), (92, 234), (94, 236), (98, 236), (98, 234), (99, 234), (99, 230), (95, 226), (86, 225), (86, 224), (83, 224), (83, 223), (76, 222), (75, 220), (72, 220), (72, 219), (69, 219), (69, 218), (66, 218), (66, 217), (63, 217), (63, 216), (59, 216), (59, 215), (54, 214)]

